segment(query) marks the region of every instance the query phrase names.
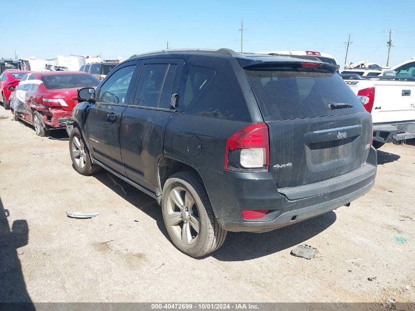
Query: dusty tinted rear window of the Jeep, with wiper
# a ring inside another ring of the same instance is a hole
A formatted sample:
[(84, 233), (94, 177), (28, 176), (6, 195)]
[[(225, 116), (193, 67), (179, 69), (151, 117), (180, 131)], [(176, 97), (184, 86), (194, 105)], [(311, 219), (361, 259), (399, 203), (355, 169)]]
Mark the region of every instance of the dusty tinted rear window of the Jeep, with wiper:
[[(265, 121), (329, 116), (365, 111), (336, 73), (284, 68), (245, 70)], [(330, 104), (353, 108), (332, 109)]]

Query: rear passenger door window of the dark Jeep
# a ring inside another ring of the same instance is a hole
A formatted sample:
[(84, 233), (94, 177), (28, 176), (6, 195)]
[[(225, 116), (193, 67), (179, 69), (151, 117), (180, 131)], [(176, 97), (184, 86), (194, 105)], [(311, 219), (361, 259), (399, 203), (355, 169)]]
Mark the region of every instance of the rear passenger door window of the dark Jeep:
[(169, 64), (146, 64), (142, 67), (134, 105), (158, 107), (169, 66)]

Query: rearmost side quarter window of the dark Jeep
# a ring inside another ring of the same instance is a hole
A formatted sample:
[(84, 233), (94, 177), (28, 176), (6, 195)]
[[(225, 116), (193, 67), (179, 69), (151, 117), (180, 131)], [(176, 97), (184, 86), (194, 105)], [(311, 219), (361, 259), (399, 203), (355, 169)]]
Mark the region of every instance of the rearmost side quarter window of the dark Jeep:
[(185, 72), (180, 83), (179, 107), (186, 110), (194, 104), (209, 82), (215, 76), (215, 70), (198, 67), (185, 66)]

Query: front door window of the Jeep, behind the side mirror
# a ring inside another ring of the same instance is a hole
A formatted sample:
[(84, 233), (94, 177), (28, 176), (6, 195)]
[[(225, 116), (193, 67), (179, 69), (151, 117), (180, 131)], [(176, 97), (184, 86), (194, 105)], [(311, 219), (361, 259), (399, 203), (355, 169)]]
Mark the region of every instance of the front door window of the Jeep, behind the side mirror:
[(97, 102), (107, 104), (127, 104), (128, 87), (133, 77), (136, 66), (128, 66), (114, 72), (113, 75), (101, 86)]

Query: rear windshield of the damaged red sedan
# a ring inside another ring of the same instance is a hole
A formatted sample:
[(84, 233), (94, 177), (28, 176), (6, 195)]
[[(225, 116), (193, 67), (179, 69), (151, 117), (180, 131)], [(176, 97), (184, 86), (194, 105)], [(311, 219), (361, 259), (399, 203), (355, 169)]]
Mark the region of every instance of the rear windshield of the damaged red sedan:
[(48, 89), (97, 86), (99, 80), (87, 74), (48, 75), (40, 78)]

